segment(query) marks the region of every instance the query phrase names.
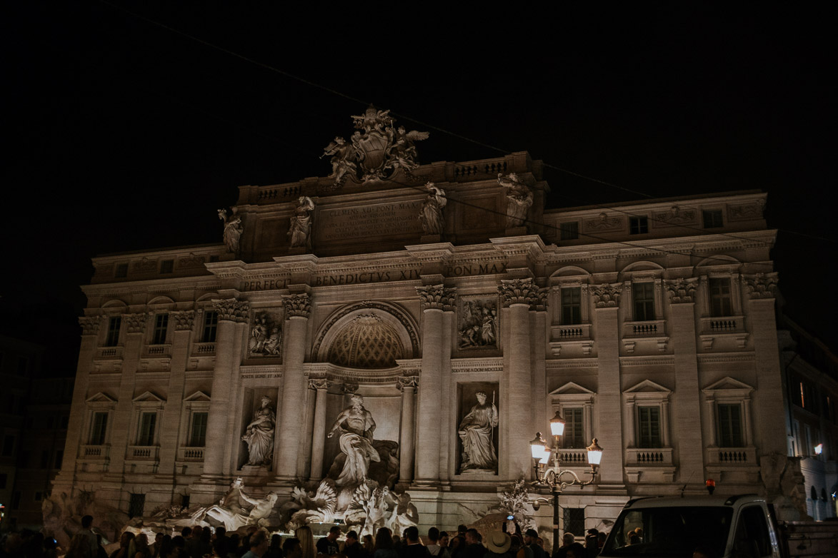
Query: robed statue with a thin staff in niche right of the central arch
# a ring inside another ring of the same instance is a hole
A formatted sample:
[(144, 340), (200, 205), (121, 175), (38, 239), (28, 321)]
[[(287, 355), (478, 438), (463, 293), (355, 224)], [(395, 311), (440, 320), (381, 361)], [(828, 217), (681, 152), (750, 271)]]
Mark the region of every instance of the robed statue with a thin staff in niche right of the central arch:
[(467, 470), (493, 471), (498, 467), (498, 454), (494, 451), (494, 428), (498, 426), (498, 407), (486, 402), (485, 392), (478, 392), (478, 404), (463, 417), (458, 434), (463, 441), (460, 473)]

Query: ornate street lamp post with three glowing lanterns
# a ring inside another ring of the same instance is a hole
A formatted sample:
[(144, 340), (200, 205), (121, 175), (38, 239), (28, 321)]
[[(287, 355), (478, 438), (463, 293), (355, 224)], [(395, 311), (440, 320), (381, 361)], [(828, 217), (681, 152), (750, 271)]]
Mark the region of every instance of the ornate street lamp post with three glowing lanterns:
[[(559, 412), (550, 419), (550, 430), (553, 435), (553, 447), (547, 449), (547, 443), (541, 438), (541, 433), (535, 433), (535, 439), (530, 441), (532, 451), (533, 467), (535, 468), (535, 486), (549, 486), (553, 495), (553, 552), (559, 548), (559, 495), (567, 486), (587, 486), (597, 478), (597, 468), (603, 458), (603, 448), (599, 447), (597, 438), (593, 438), (592, 444), (587, 447), (587, 463), (591, 466), (591, 478), (582, 481), (579, 476), (570, 469), (561, 468), (561, 453), (559, 452), (559, 439), (565, 432), (565, 421)], [(550, 458), (553, 464), (550, 466)], [(538, 501), (533, 504), (538, 509)]]

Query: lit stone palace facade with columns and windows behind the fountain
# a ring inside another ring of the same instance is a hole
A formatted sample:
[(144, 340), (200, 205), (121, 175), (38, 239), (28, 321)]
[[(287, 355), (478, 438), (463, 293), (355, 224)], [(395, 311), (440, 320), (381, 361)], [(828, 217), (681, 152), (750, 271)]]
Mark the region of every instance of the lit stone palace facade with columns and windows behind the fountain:
[[(54, 494), (149, 514), (241, 477), (282, 501), (330, 474), (353, 394), (425, 528), (478, 520), (531, 479), (530, 439), (556, 411), (568, 467), (587, 470), (592, 438), (604, 448), (597, 483), (562, 496), (587, 527), (707, 478), (776, 493), (763, 193), (548, 209), (525, 152), (376, 171), (342, 145), (330, 177), (241, 187), (223, 245), (94, 259)], [(261, 409), (276, 409), (272, 449), (251, 463)]]

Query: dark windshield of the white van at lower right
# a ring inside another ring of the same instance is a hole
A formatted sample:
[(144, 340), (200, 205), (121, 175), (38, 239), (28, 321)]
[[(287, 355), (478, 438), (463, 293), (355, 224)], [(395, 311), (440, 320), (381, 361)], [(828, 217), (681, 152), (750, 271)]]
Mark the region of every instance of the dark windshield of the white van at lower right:
[[(626, 509), (614, 523), (602, 556), (685, 556), (706, 546), (724, 555), (733, 509), (727, 506)], [(639, 529), (639, 530), (638, 530)]]

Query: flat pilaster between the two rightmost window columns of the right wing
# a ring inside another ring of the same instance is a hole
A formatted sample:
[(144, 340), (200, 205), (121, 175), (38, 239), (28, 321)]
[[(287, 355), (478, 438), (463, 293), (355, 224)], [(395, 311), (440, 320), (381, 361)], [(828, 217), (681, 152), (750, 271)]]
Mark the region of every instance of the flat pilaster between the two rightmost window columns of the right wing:
[(703, 443), (701, 428), (696, 427), (701, 424), (694, 302), (696, 282), (697, 279), (672, 279), (664, 283), (670, 293), (669, 334), (675, 352), (675, 391), (672, 393), (675, 416), (662, 418), (663, 424), (671, 421), (674, 426), (679, 482), (694, 484), (704, 479), (704, 446), (710, 445)]

